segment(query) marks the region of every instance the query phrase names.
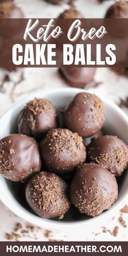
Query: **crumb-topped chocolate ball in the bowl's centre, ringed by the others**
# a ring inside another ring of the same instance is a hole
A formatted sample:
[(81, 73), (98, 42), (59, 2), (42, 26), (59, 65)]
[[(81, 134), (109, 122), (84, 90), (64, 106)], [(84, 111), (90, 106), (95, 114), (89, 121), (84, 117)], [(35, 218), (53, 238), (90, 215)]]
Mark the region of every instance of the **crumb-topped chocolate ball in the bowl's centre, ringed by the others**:
[(85, 162), (86, 150), (78, 133), (52, 129), (40, 144), (41, 157), (50, 171), (66, 174)]

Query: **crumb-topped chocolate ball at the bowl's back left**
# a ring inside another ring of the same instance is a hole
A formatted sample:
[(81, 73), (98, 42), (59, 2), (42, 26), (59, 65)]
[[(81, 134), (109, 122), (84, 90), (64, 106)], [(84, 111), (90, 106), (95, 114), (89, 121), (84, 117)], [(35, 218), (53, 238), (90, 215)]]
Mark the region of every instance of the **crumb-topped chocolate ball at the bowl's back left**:
[(18, 118), (18, 132), (36, 139), (50, 129), (57, 127), (57, 110), (47, 99), (35, 98), (21, 111)]

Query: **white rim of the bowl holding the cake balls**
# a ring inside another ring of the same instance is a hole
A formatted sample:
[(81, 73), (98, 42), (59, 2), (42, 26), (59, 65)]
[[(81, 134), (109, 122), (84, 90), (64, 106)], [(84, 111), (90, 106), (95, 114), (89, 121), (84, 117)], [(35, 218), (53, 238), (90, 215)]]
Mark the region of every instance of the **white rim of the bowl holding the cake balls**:
[[(18, 101), (18, 103), (15, 103), (12, 107), (9, 108), (9, 110), (7, 112), (5, 112), (3, 114), (3, 116), (0, 118), (0, 121), (2, 121), (3, 118), (5, 118), (5, 116), (8, 116), (8, 114), (10, 112), (12, 112), (13, 110), (16, 110), (16, 108), (18, 106), (20, 106), (21, 104), (24, 103), (24, 101), (29, 101), (32, 98), (35, 97), (46, 97), (45, 95), (49, 94), (49, 95), (55, 95), (56, 93), (68, 93), (68, 92), (72, 92), (72, 93), (79, 93), (79, 92), (88, 92), (88, 93), (94, 93), (91, 90), (87, 91), (85, 89), (79, 89), (79, 88), (66, 88), (66, 87), (62, 87), (62, 88), (54, 88), (54, 89), (48, 89), (48, 90), (41, 90), (35, 93), (31, 93), (29, 94), (29, 96), (24, 97), (22, 100)], [(40, 96), (40, 93), (42, 94)], [(98, 93), (96, 92), (95, 95), (98, 95)], [(127, 123), (127, 127), (128, 127), (128, 116), (124, 113), (123, 110), (121, 110), (121, 108), (119, 108), (116, 104), (114, 104), (111, 100), (105, 99), (104, 97), (101, 98), (101, 100), (103, 100), (104, 103), (106, 103), (107, 105), (109, 105), (110, 107), (112, 107), (114, 109), (114, 111), (118, 112), (122, 118), (126, 121)], [(88, 220), (76, 220), (76, 221), (55, 221), (55, 220), (51, 220), (51, 219), (44, 219), (42, 217), (39, 217), (33, 213), (28, 212), (28, 210), (24, 210), (22, 208), (18, 207), (18, 203), (16, 204), (14, 202), (14, 207), (10, 206), (10, 200), (6, 201), (4, 200), (4, 193), (2, 193), (2, 191), (4, 191), (4, 183), (5, 183), (5, 178), (2, 177), (0, 175), (0, 200), (3, 202), (4, 206), (7, 207), (12, 213), (14, 213), (15, 215), (17, 215), (18, 217), (21, 217), (21, 219), (23, 219), (24, 221), (27, 221), (35, 226), (39, 226), (41, 228), (44, 229), (52, 229), (52, 230), (62, 230), (62, 231), (68, 231), (70, 228), (73, 230), (73, 228), (84, 228), (84, 226), (89, 226), (90, 225), (94, 225), (97, 226), (99, 225), (99, 222), (104, 222), (105, 217), (107, 216), (107, 219), (109, 219), (110, 217), (112, 217), (112, 215), (114, 215), (114, 213), (116, 213), (118, 210), (120, 210), (121, 208), (124, 207), (124, 204), (126, 203), (126, 199), (128, 199), (128, 193), (126, 193), (126, 195), (124, 195), (123, 199), (121, 200), (121, 202), (117, 203), (115, 206), (113, 205), (112, 208), (110, 208), (109, 210), (103, 212), (101, 215), (98, 215), (96, 217), (92, 217)], [(3, 184), (3, 185), (2, 185)], [(13, 199), (14, 200), (14, 199)]]

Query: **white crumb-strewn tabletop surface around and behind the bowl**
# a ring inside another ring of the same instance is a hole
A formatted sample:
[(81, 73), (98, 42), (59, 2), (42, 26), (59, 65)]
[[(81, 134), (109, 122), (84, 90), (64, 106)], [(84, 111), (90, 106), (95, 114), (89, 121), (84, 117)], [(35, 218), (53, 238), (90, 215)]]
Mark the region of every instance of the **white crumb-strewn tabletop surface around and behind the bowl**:
[[(19, 5), (25, 17), (57, 17), (67, 5), (53, 6), (43, 2), (42, 0), (15, 0)], [(105, 1), (99, 4), (97, 0), (78, 0), (76, 6), (79, 7), (84, 17), (104, 17), (107, 7), (114, 1)], [(24, 73), (24, 80), (15, 86), (15, 83), (20, 80), (20, 76)], [(56, 68), (26, 68), (20, 69), (18, 72), (7, 72), (0, 70), (0, 84), (4, 74), (8, 74), (11, 78), (10, 82), (5, 82), (3, 85), (4, 93), (0, 92), (0, 117), (17, 101), (26, 97), (28, 94), (35, 91), (45, 90), (49, 88), (60, 88), (67, 86), (63, 80), (60, 79)], [(121, 78), (114, 74), (108, 68), (98, 68), (95, 74), (95, 80), (101, 82), (97, 88), (91, 89), (92, 92), (97, 93), (99, 97), (107, 97), (119, 103), (120, 98), (128, 96), (128, 79)], [(128, 204), (128, 202), (126, 202)], [(112, 216), (111, 220), (105, 220), (104, 226), (113, 231), (115, 226), (119, 226), (117, 237), (111, 235), (109, 232), (103, 233), (102, 228), (90, 227), (89, 231), (81, 231), (80, 234), (67, 234), (63, 232), (53, 232), (51, 239), (64, 240), (64, 241), (126, 241), (127, 240), (127, 227), (124, 228), (118, 221), (120, 213)], [(18, 217), (11, 214), (3, 204), (0, 202), (0, 241), (6, 241), (5, 233), (12, 232), (16, 222), (25, 223)], [(114, 219), (113, 219), (114, 217)], [(113, 220), (112, 220), (113, 219)], [(123, 214), (123, 219), (128, 225), (128, 214)], [(93, 232), (93, 233), (92, 233)], [(34, 241), (36, 238), (39, 241), (46, 241), (48, 238), (44, 235), (41, 229), (35, 229), (34, 233), (29, 231), (24, 238), (20, 241)], [(98, 234), (98, 235), (95, 235)]]

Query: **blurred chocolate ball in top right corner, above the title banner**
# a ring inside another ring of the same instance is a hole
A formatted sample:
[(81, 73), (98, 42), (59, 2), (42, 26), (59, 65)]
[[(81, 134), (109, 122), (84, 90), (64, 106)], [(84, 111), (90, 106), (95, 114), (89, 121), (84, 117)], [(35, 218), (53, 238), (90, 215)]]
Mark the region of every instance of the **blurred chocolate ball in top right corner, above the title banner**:
[(128, 2), (115, 2), (108, 8), (105, 18), (128, 18)]

